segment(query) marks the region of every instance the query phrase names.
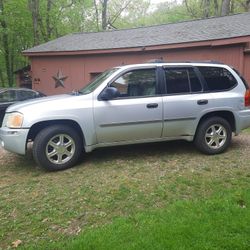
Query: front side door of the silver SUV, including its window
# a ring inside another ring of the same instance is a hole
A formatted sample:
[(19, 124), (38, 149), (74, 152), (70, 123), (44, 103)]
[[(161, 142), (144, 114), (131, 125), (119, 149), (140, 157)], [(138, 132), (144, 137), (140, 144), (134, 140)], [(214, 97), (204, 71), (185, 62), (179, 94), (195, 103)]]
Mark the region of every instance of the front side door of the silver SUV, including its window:
[(96, 100), (98, 143), (137, 142), (161, 137), (163, 103), (155, 68), (130, 70), (109, 84), (119, 90), (114, 100)]

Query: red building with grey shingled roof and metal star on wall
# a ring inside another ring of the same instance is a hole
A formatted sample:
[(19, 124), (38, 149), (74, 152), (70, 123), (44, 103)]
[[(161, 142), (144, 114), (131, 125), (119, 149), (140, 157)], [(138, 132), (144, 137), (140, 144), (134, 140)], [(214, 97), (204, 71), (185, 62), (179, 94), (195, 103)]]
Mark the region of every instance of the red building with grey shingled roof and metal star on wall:
[(250, 12), (150, 27), (69, 34), (23, 51), (32, 88), (47, 95), (85, 86), (107, 68), (165, 61), (216, 60), (250, 83)]

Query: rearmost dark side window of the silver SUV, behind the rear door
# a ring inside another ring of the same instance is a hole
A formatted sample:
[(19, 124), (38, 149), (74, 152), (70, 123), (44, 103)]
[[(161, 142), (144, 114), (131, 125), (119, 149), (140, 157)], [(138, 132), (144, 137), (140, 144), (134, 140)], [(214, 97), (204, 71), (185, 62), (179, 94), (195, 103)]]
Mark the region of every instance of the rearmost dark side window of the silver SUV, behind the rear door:
[(210, 91), (229, 90), (237, 85), (237, 80), (227, 69), (202, 66), (198, 68)]

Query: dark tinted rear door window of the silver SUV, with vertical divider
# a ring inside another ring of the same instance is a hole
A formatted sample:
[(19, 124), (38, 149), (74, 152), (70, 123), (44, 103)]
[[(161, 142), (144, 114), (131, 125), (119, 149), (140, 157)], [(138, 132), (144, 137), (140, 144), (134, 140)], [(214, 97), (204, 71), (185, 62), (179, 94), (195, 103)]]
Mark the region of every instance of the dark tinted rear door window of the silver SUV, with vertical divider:
[(179, 94), (200, 92), (200, 80), (191, 68), (166, 68), (165, 69), (167, 93)]

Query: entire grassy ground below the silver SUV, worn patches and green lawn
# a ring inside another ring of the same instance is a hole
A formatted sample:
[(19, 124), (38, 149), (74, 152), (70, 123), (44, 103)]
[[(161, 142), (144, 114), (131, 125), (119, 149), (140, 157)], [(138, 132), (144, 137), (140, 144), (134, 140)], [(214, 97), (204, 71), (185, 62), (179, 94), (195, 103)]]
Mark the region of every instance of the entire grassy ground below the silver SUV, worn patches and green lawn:
[(249, 249), (249, 146), (106, 148), (56, 173), (1, 152), (0, 249)]

